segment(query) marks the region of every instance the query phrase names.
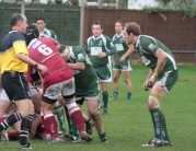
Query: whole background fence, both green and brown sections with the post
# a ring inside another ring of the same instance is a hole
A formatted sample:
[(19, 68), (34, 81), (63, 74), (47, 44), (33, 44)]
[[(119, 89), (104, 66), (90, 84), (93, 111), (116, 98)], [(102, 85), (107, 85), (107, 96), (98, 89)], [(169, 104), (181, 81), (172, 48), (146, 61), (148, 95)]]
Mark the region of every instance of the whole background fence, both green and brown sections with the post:
[[(16, 12), (21, 12), (20, 4), (0, 3), (0, 37), (10, 30), (9, 18)], [(178, 63), (196, 65), (196, 19), (185, 16), (183, 12), (162, 12), (160, 15), (135, 10), (27, 4), (25, 14), (28, 23), (35, 22), (36, 16), (44, 16), (47, 27), (55, 31), (59, 42), (81, 46), (84, 46), (87, 38), (92, 35), (93, 21), (102, 21), (103, 33), (109, 37), (115, 33), (116, 21), (134, 21), (140, 24), (142, 34), (163, 42), (173, 51)], [(136, 53), (132, 54), (132, 62), (140, 62)]]

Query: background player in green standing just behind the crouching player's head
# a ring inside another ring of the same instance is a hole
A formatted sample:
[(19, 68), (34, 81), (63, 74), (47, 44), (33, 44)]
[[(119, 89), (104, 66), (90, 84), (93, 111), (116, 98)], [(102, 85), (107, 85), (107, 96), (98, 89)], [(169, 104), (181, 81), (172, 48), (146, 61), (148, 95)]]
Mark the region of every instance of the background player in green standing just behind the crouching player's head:
[(113, 67), (114, 73), (114, 92), (111, 100), (116, 100), (118, 96), (118, 80), (123, 72), (124, 80), (127, 85), (127, 100), (131, 100), (131, 82), (130, 82), (130, 54), (134, 51), (134, 45), (127, 46), (123, 39), (124, 23), (117, 21), (115, 23), (116, 34), (113, 36), (113, 43), (116, 46), (116, 54), (114, 55), (115, 61)]

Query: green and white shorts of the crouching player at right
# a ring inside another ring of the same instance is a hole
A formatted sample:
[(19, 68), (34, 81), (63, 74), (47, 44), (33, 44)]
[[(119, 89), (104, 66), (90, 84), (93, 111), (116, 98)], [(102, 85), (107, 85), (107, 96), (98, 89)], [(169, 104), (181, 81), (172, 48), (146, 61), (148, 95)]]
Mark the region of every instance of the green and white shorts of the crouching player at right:
[(161, 72), (157, 78), (155, 84), (162, 86), (166, 93), (173, 88), (178, 79), (178, 70)]

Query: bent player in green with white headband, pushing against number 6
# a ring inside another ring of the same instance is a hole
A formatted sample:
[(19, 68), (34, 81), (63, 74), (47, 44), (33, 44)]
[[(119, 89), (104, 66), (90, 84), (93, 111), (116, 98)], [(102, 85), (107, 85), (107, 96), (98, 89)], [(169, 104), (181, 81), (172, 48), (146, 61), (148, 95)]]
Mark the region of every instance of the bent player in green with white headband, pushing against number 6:
[(69, 47), (65, 45), (59, 47), (59, 53), (73, 70), (77, 104), (81, 107), (84, 100), (87, 100), (88, 112), (97, 130), (101, 142), (107, 143), (102, 118), (97, 113), (97, 77), (87, 53), (80, 46)]

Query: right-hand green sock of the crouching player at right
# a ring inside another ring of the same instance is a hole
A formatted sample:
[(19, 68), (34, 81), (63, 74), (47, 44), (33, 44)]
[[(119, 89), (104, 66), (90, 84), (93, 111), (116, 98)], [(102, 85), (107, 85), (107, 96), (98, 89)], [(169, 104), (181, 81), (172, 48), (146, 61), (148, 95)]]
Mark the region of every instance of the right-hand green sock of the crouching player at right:
[(162, 139), (166, 140), (166, 141), (170, 141), (169, 133), (168, 133), (168, 128), (166, 128), (165, 117), (164, 117), (164, 115), (163, 115), (163, 113), (161, 111), (159, 111), (159, 113), (160, 113), (160, 116), (161, 116), (161, 133), (162, 133)]

